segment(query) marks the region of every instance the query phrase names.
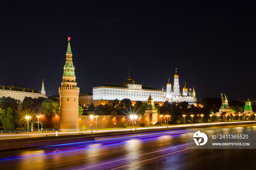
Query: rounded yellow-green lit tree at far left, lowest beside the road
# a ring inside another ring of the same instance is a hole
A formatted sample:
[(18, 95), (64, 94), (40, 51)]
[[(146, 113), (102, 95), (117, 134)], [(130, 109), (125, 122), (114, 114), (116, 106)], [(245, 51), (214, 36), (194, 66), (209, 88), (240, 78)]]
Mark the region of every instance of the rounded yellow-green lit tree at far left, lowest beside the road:
[(4, 125), (5, 131), (15, 130), (18, 122), (18, 113), (15, 112), (11, 107), (3, 109), (1, 111), (0, 118)]

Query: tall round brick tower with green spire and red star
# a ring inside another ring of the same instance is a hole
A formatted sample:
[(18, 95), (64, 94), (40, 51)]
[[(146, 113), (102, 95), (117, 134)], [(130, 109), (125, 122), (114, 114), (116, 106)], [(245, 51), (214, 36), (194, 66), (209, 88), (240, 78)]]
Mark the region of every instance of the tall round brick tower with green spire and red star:
[(64, 65), (63, 81), (59, 88), (60, 93), (60, 130), (78, 131), (78, 94), (76, 86), (75, 67), (72, 62), (72, 52), (68, 37), (68, 49)]

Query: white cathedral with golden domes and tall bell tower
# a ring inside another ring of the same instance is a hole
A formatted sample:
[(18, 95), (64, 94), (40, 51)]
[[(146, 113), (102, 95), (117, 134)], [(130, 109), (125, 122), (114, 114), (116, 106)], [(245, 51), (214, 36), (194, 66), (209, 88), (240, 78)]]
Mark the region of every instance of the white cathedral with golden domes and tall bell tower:
[(168, 80), (168, 83), (166, 85), (166, 91), (163, 89), (162, 91), (164, 93), (163, 101), (176, 102), (176, 103), (187, 101), (189, 105), (196, 104), (196, 92), (194, 87), (192, 92), (192, 89), (187, 88), (186, 82), (185, 82), (185, 86), (182, 89), (182, 94), (181, 94), (180, 85), (179, 85), (179, 75), (177, 73), (177, 69), (176, 69), (176, 73), (174, 74), (173, 91), (172, 91), (172, 84), (170, 84), (170, 79)]

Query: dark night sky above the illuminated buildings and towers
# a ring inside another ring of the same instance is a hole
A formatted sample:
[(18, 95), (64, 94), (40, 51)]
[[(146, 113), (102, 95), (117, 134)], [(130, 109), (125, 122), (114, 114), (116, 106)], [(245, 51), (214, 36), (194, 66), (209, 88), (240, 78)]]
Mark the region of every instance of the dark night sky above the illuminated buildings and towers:
[[(40, 3), (39, 3), (40, 2)], [(255, 4), (159, 1), (1, 2), (0, 85), (59, 95), (68, 36), (80, 93), (129, 76), (196, 97), (256, 98)], [(240, 97), (239, 97), (240, 96)]]

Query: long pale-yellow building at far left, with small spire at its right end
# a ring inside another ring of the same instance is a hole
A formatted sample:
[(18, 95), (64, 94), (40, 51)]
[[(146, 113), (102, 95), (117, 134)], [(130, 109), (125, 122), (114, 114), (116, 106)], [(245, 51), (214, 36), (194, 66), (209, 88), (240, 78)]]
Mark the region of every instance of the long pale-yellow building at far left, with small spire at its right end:
[[(43, 82), (42, 86), (44, 87), (44, 82)], [(39, 90), (18, 88), (18, 87), (14, 87), (14, 86), (0, 86), (0, 95), (1, 95), (1, 97), (12, 97), (17, 100), (20, 100), (21, 102), (24, 100), (25, 97), (31, 97), (31, 98), (45, 97), (45, 98), (47, 98), (47, 96), (45, 95), (45, 91), (44, 91), (44, 93), (41, 93)]]

